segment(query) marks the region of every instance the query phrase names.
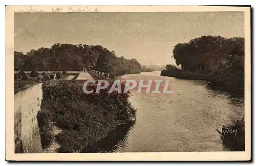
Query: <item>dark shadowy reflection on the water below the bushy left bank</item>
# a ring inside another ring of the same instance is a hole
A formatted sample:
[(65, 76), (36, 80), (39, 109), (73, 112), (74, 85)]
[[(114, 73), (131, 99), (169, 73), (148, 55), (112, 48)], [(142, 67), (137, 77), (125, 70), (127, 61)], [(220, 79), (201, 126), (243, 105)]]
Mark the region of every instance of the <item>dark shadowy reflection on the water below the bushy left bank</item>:
[(117, 149), (123, 149), (127, 145), (127, 136), (134, 124), (120, 125), (116, 130), (111, 131), (108, 136), (99, 140), (99, 142), (83, 149), (83, 153), (97, 152), (116, 152)]

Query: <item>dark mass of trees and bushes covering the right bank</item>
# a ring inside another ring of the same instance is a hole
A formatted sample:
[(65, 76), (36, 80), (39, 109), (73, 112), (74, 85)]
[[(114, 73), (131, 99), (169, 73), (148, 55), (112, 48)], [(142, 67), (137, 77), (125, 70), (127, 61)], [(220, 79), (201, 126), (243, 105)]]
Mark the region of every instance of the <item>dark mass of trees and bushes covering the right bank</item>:
[(182, 70), (166, 66), (162, 73), (169, 76), (172, 73), (187, 75), (189, 79), (199, 73), (211, 85), (224, 89), (244, 89), (244, 56), (244, 38), (202, 36), (175, 45), (172, 57)]

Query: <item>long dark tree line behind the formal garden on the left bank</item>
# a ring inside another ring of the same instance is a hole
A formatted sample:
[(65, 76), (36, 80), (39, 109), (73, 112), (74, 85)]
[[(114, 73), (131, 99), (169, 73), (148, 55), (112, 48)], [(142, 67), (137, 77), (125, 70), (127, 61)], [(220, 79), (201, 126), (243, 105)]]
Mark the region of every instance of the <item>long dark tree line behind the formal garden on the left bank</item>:
[(27, 54), (14, 51), (14, 70), (67, 70), (79, 71), (83, 67), (108, 72), (110, 76), (139, 73), (136, 59), (117, 57), (100, 45), (54, 44), (51, 48), (30, 50)]

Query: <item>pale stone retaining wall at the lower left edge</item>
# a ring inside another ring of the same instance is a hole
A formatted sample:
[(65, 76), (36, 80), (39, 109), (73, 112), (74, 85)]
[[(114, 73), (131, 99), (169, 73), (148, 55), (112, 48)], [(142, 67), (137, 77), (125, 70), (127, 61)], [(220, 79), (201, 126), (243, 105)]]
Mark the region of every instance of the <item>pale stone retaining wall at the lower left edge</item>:
[(15, 153), (41, 153), (37, 112), (42, 100), (42, 83), (14, 95)]

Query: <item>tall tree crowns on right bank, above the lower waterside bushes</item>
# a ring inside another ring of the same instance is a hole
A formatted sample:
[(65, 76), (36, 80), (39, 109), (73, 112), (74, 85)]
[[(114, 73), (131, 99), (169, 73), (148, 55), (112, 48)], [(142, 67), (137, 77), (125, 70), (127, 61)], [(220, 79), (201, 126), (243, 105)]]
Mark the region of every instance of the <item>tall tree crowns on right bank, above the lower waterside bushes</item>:
[(194, 71), (195, 64), (204, 64), (207, 69), (226, 57), (234, 55), (244, 56), (244, 38), (224, 38), (221, 36), (202, 36), (191, 39), (187, 43), (174, 46), (173, 58), (183, 71)]

